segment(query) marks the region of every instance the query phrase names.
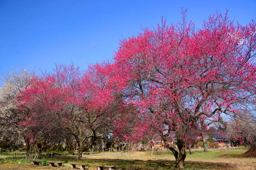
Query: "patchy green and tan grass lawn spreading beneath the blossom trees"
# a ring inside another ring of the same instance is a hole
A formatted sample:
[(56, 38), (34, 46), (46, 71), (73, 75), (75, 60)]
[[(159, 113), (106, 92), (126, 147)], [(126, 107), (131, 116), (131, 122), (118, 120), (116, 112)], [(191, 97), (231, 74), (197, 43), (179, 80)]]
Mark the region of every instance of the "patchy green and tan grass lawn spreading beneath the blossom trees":
[[(185, 168), (204, 168), (209, 170), (256, 170), (256, 158), (241, 158), (220, 156), (223, 154), (239, 155), (244, 153), (245, 149), (228, 149), (228, 150), (209, 150), (204, 153), (202, 150), (194, 150), (192, 155), (187, 153)], [(0, 157), (12, 157), (14, 153), (0, 153)], [(22, 156), (24, 153), (16, 153)], [(44, 153), (45, 157), (46, 154)], [(55, 156), (47, 160), (74, 161), (76, 156)], [(36, 165), (24, 164), (19, 161), (6, 163), (0, 159), (0, 170), (54, 170), (60, 168), (38, 167)], [(19, 159), (17, 159), (19, 160)], [(82, 162), (88, 164), (90, 170), (96, 170), (94, 164), (116, 165), (122, 168), (138, 168), (140, 170), (166, 170), (175, 167), (175, 158), (171, 153), (159, 152), (151, 156), (149, 152), (133, 153), (99, 153), (95, 155), (84, 155)], [(64, 164), (61, 170), (69, 170), (68, 164)]]

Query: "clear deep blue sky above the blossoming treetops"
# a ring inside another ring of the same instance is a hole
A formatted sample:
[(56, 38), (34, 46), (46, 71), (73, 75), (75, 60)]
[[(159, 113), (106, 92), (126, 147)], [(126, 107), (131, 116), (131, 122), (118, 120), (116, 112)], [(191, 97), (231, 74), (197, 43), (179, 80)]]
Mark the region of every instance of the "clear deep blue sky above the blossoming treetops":
[(242, 25), (256, 19), (256, 0), (0, 0), (0, 76), (111, 60), (119, 40), (156, 26), (161, 16), (177, 23), (182, 7), (196, 28), (227, 9)]

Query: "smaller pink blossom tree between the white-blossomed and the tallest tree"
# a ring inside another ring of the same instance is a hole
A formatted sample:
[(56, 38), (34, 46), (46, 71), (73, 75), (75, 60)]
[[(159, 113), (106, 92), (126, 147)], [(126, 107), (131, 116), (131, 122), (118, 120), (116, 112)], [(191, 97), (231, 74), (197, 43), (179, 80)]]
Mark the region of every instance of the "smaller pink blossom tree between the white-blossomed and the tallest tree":
[(109, 132), (118, 110), (108, 81), (110, 68), (109, 64), (97, 64), (82, 72), (73, 65), (62, 65), (56, 66), (53, 74), (35, 77), (20, 92), (20, 108), (29, 113), (20, 126), (30, 127), (35, 140), (38, 133), (69, 133), (78, 144), (80, 160), (83, 151)]

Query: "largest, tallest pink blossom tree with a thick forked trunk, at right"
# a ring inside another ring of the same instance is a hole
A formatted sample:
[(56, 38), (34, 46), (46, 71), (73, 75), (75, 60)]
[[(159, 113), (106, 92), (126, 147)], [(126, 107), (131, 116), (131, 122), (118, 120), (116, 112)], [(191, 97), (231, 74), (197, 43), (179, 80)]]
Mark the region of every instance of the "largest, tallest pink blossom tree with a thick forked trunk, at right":
[(207, 130), (209, 121), (239, 117), (255, 104), (255, 28), (254, 21), (235, 25), (216, 14), (195, 30), (183, 13), (177, 25), (163, 22), (121, 42), (114, 79), (125, 103), (144, 120), (136, 128), (154, 125), (163, 140), (175, 133), (179, 151), (166, 147), (176, 167), (183, 167), (189, 130)]

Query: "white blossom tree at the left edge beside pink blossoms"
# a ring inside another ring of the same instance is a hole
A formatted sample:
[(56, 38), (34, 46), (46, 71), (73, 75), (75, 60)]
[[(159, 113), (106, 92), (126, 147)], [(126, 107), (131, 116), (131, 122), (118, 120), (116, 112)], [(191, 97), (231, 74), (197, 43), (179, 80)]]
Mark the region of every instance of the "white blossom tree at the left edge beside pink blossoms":
[(20, 113), (17, 111), (17, 94), (27, 87), (32, 74), (23, 71), (12, 71), (2, 77), (3, 85), (0, 87), (0, 133), (4, 142), (11, 148), (17, 144), (19, 135), (23, 130), (18, 126)]

